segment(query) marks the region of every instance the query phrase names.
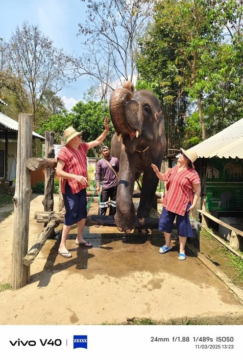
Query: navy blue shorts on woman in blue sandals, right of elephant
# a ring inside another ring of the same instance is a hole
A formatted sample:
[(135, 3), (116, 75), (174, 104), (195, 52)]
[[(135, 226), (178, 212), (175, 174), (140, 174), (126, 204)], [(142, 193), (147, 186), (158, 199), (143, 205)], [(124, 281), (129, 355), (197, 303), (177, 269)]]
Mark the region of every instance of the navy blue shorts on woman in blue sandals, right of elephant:
[[(188, 208), (191, 206), (191, 204), (188, 205)], [(176, 228), (177, 233), (179, 236), (182, 237), (193, 237), (194, 231), (189, 219), (189, 213), (186, 211), (186, 214), (184, 216), (178, 215), (175, 213), (172, 213), (171, 211), (168, 211), (165, 207), (163, 207), (160, 220), (159, 220), (159, 230), (171, 233), (173, 229), (173, 223), (176, 217)]]

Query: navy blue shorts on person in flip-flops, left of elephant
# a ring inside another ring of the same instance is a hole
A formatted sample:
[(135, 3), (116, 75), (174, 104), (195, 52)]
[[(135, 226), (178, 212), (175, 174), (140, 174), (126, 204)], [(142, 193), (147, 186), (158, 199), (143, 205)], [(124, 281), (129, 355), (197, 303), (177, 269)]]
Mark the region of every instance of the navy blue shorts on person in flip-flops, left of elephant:
[(63, 195), (66, 214), (64, 216), (65, 225), (73, 225), (82, 219), (87, 218), (87, 196), (86, 189), (79, 193), (73, 194), (67, 182), (65, 186), (65, 194)]

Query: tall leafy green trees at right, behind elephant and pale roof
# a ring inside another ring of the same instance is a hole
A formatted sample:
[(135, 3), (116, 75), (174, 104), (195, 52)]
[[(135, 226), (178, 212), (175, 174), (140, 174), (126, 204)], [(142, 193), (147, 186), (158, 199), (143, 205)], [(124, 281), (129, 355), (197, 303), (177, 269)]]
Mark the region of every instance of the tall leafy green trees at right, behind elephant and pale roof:
[(168, 147), (193, 146), (243, 116), (242, 14), (237, 0), (155, 3), (136, 65), (139, 86), (160, 97)]

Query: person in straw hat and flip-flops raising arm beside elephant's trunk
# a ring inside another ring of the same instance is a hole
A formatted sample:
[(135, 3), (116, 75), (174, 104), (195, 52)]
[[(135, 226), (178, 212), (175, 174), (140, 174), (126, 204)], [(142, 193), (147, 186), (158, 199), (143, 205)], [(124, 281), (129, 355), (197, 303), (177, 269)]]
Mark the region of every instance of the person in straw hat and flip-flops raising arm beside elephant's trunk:
[(66, 240), (74, 223), (77, 223), (75, 244), (88, 248), (92, 247), (92, 244), (83, 238), (83, 229), (87, 218), (87, 151), (100, 145), (106, 138), (110, 129), (107, 116), (104, 119), (104, 126), (105, 131), (96, 140), (90, 142), (82, 142), (81, 132), (73, 129), (73, 126), (64, 131), (66, 144), (59, 151), (56, 174), (61, 178), (61, 189), (66, 209), (58, 254), (66, 258), (72, 257), (66, 248)]

